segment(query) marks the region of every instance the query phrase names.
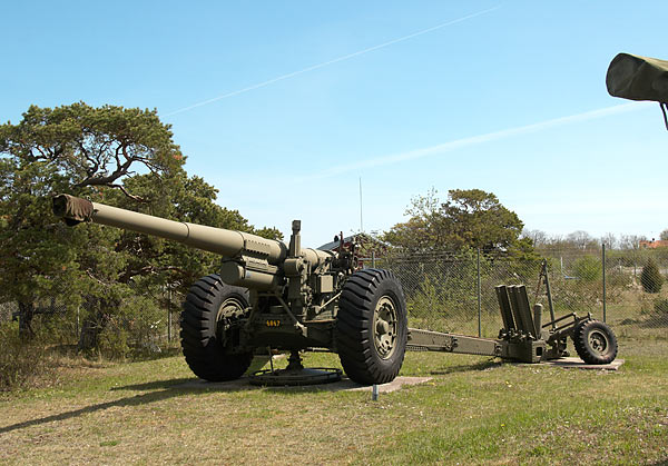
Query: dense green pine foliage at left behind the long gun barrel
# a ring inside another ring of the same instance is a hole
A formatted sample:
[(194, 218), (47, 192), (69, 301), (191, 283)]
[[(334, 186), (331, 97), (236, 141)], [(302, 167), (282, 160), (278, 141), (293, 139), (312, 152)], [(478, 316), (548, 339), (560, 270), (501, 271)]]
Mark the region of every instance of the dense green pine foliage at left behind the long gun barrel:
[[(169, 125), (155, 110), (32, 106), (18, 125), (0, 125), (0, 301), (18, 303), (23, 337), (39, 336), (35, 310), (55, 299), (70, 316), (80, 310), (81, 349), (127, 357), (165, 331), (165, 311), (158, 310), (166, 290), (184, 293), (220, 261), (146, 235), (66, 227), (51, 212), (51, 194), (281, 237), (218, 206), (217, 190), (188, 177), (183, 163)], [(51, 328), (50, 335), (61, 334)]]

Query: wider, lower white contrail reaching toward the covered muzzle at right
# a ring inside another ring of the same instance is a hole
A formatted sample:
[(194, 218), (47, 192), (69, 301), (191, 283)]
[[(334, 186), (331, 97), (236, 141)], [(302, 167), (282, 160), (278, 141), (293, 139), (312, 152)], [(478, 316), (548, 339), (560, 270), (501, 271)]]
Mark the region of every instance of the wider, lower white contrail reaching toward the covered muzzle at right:
[(311, 177), (304, 177), (301, 180), (306, 179), (320, 179), (320, 178), (328, 178), (335, 175), (344, 173), (347, 171), (361, 170), (364, 168), (371, 167), (380, 167), (384, 165), (399, 163), (405, 160), (414, 160), (424, 157), (436, 156), (443, 152), (449, 152), (455, 149), (461, 149), (464, 147), (477, 146), (484, 142), (495, 141), (499, 139), (510, 138), (512, 136), (525, 135), (529, 132), (541, 131), (543, 129), (554, 128), (558, 126), (576, 123), (581, 121), (595, 120), (598, 118), (609, 117), (612, 115), (627, 113), (630, 111), (637, 111), (641, 109), (646, 109), (649, 107), (649, 102), (645, 105), (642, 102), (632, 102), (632, 103), (622, 103), (613, 107), (606, 107), (598, 110), (590, 110), (583, 113), (571, 115), (568, 117), (554, 118), (547, 121), (541, 121), (538, 123), (525, 125), (517, 128), (503, 129), (501, 131), (488, 132), (484, 135), (472, 136), (470, 138), (455, 139), (453, 141), (440, 143), (436, 146), (431, 146), (422, 149), (410, 150), (406, 152), (393, 153), (383, 157), (376, 157), (373, 159), (362, 160), (354, 163), (341, 165), (338, 167), (333, 167), (328, 170), (322, 171), (320, 173), (313, 175)]

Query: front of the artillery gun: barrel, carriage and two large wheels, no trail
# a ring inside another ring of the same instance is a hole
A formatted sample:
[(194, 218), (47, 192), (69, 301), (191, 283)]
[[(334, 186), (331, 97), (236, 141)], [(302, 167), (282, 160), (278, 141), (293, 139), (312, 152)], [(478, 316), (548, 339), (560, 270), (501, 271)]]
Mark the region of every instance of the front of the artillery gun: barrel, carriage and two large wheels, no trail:
[(348, 377), (362, 384), (390, 381), (401, 368), (407, 338), (401, 285), (390, 271), (360, 270), (355, 245), (302, 248), (299, 220), (285, 245), (68, 195), (53, 198), (53, 212), (70, 226), (94, 221), (223, 257), (218, 275), (193, 285), (181, 313), (184, 355), (202, 378), (237, 378), (254, 351), (267, 347), (335, 351)]

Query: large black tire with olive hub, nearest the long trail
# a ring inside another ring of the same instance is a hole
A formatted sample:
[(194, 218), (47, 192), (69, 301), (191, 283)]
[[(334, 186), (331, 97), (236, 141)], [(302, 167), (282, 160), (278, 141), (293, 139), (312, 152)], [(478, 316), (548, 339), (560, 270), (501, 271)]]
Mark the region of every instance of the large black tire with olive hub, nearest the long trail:
[(403, 364), (407, 327), (403, 290), (391, 271), (364, 269), (351, 276), (341, 293), (335, 331), (351, 380), (392, 381)]

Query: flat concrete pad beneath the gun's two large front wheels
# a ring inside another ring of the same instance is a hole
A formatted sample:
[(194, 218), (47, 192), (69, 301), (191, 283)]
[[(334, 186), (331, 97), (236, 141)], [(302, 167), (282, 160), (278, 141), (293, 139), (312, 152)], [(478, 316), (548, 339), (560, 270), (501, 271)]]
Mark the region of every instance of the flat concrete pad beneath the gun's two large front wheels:
[[(430, 381), (431, 377), (396, 377), (394, 380), (379, 385), (379, 391), (382, 394), (387, 394), (391, 391), (396, 391), (403, 386), (407, 385), (418, 385), (424, 384), (425, 381)], [(198, 388), (204, 390), (243, 390), (243, 389), (257, 389), (261, 387), (256, 387), (250, 385), (248, 381), (248, 377), (242, 377), (237, 380), (232, 381), (206, 381), (202, 379), (193, 379), (188, 380), (184, 384), (175, 385), (174, 388)], [(320, 391), (371, 391), (371, 385), (360, 385), (354, 383), (347, 377), (343, 377), (338, 381), (334, 381), (331, 384), (320, 384), (320, 385), (307, 385), (303, 387), (267, 387), (271, 389), (296, 389), (296, 390), (320, 390)]]

